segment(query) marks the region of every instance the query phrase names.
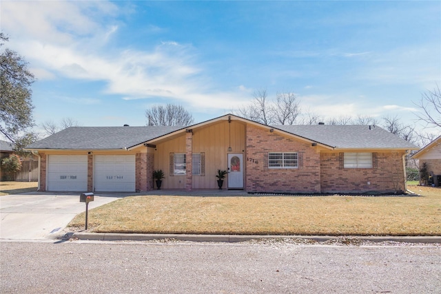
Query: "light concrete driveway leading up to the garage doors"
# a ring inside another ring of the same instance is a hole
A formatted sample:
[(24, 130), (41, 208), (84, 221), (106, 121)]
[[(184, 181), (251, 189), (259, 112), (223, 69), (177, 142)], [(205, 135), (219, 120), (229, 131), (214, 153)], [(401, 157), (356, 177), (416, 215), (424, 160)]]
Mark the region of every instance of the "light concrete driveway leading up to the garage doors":
[[(32, 192), (0, 196), (1, 240), (48, 240), (85, 211), (80, 193)], [(89, 209), (119, 198), (121, 194), (95, 195)]]

